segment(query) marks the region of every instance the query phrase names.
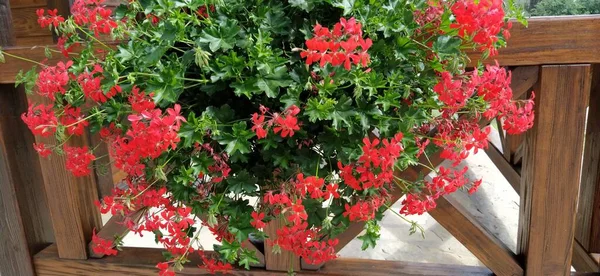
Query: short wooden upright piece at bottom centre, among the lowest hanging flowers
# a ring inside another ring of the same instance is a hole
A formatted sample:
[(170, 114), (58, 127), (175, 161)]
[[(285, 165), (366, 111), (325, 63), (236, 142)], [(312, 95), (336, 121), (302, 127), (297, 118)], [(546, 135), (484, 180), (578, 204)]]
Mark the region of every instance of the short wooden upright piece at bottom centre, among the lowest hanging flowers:
[[(277, 237), (277, 229), (283, 227), (284, 224), (283, 220), (274, 220), (267, 223), (263, 231), (268, 237), (274, 239)], [(270, 271), (288, 271), (290, 269), (298, 271), (300, 270), (300, 258), (286, 250), (281, 250), (281, 253), (278, 254), (273, 253), (273, 246), (265, 241), (265, 265), (266, 269)]]

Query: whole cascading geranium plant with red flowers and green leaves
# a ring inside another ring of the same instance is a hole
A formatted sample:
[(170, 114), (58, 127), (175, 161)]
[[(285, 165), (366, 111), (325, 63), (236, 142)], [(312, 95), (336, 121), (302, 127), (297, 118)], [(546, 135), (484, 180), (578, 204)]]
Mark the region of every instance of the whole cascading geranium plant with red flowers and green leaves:
[[(359, 238), (374, 247), (392, 194), (405, 195), (397, 215), (422, 214), (481, 183), (445, 167), (431, 180), (395, 171), (431, 166), (419, 158), (439, 150), (456, 165), (487, 147), (481, 120), (509, 134), (532, 126), (533, 101), (512, 100), (509, 72), (467, 67), (465, 51), (494, 56), (509, 38), (515, 13), (502, 2), (131, 0), (112, 10), (75, 0), (68, 17), (37, 13), (65, 61), (18, 76), (44, 99), (22, 119), (56, 137), (34, 147), (66, 155), (75, 176), (109, 160), (127, 173), (98, 206), (156, 235), (160, 275), (197, 252), (211, 272), (248, 267), (250, 236), (318, 264), (336, 257), (352, 222), (367, 222)], [(67, 143), (87, 131), (110, 158)], [(202, 253), (197, 218), (219, 258)], [(283, 226), (267, 237), (274, 220)], [(108, 255), (120, 246), (94, 242)]]

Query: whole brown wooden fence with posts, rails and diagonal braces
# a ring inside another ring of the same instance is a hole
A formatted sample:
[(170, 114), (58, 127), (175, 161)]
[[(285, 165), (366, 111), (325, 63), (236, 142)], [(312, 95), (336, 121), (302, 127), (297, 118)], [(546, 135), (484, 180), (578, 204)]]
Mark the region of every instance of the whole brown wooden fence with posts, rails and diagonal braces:
[[(65, 3), (48, 0), (42, 5), (63, 7), (66, 14)], [(0, 0), (0, 46), (8, 53), (44, 59), (42, 48), (15, 46), (15, 41), (24, 41), (13, 28), (18, 20), (11, 17), (7, 0)], [(497, 59), (513, 70), (515, 97), (536, 92), (536, 121), (525, 135), (501, 135), (501, 144), (491, 146), (487, 154), (520, 194), (517, 252), (459, 202), (440, 198), (431, 216), (487, 268), (357, 259), (315, 267), (248, 242), (245, 246), (257, 251), (262, 268), (234, 273), (282, 273), (277, 271), (287, 270), (290, 262), (303, 269), (301, 273), (323, 275), (567, 275), (571, 264), (578, 273), (599, 272), (593, 253), (600, 253), (600, 16), (531, 19), (529, 28), (515, 24), (509, 44)], [(102, 228), (92, 205), (113, 182), (110, 177), (74, 178), (61, 157), (40, 159), (33, 151), (33, 142), (51, 138), (34, 138), (19, 118), (27, 98), (14, 88), (14, 76), (28, 67), (14, 59), (0, 64), (0, 274), (156, 275), (154, 266), (163, 259), (158, 249), (127, 248), (104, 258), (90, 255), (93, 228), (107, 237), (123, 231), (114, 221)], [(94, 144), (95, 139), (73, 143)], [(435, 155), (431, 159), (434, 164), (442, 161)], [(416, 178), (427, 173), (423, 170), (411, 168), (401, 174)], [(395, 195), (396, 200), (400, 197)], [(336, 249), (362, 229), (361, 223), (351, 225)], [(179, 274), (204, 273), (189, 266)]]

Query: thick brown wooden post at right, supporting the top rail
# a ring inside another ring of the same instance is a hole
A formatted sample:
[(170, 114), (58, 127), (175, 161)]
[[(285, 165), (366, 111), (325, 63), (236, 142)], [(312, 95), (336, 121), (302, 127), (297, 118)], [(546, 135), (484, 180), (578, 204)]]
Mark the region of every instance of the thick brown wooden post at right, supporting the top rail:
[(526, 275), (570, 272), (590, 76), (591, 65), (541, 68), (521, 172), (517, 253)]

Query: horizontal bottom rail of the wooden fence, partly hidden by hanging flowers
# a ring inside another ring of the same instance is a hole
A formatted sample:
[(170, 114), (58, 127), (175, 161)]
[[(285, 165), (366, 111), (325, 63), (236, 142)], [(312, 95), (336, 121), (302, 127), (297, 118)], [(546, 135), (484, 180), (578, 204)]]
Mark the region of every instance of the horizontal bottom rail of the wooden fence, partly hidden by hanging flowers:
[[(192, 262), (177, 275), (208, 275), (207, 271), (199, 268), (199, 260), (194, 254)], [(52, 245), (37, 254), (34, 258), (38, 276), (104, 276), (104, 275), (135, 275), (155, 276), (158, 262), (164, 261), (160, 249), (125, 248), (117, 256), (90, 260), (59, 259), (56, 246)], [(252, 269), (252, 271), (236, 268), (233, 275), (286, 275), (286, 272)], [(316, 272), (301, 272), (301, 275), (493, 275), (485, 267), (458, 266), (443, 264), (408, 263), (399, 261), (337, 259), (328, 262)]]

